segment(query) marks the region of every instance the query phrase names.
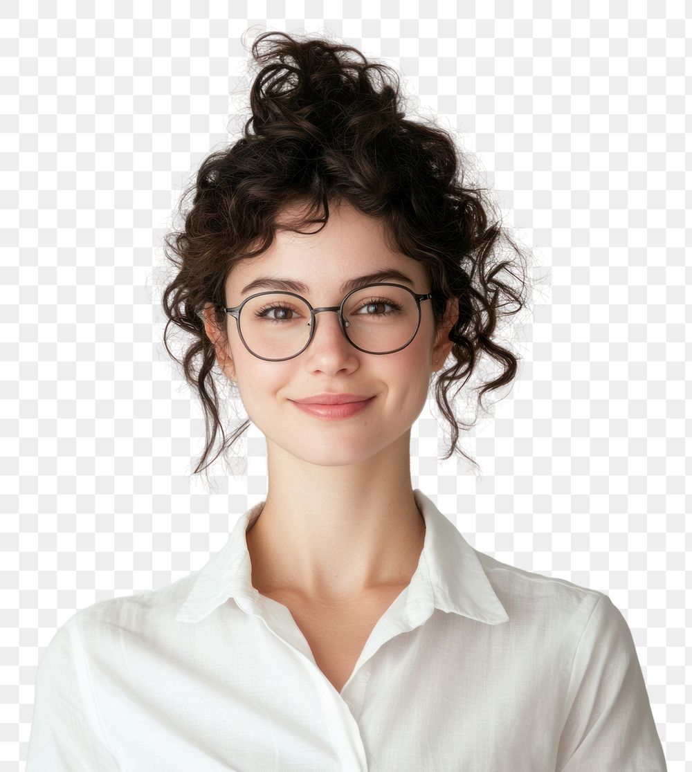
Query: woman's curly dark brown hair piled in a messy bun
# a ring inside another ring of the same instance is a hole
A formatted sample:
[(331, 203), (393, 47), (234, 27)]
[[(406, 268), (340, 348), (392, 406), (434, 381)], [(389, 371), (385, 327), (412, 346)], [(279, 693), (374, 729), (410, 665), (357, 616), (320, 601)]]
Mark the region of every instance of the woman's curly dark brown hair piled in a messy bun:
[[(268, 48), (260, 50), (265, 43)], [(206, 447), (193, 473), (209, 466), (250, 424), (248, 418), (226, 439), (212, 374), (215, 345), (202, 310), (207, 303), (215, 306), (215, 323), (227, 340), (222, 307), (229, 272), (240, 259), (270, 247), (281, 212), (298, 201), (307, 210), (288, 228), (295, 232), (308, 223), (326, 224), (329, 205), (342, 201), (381, 218), (394, 249), (425, 263), (436, 328), (447, 301), (456, 303), (451, 363), (436, 378), (436, 401), (452, 431), (443, 457), (449, 459), (459, 449), (459, 428), (475, 423), (457, 422), (449, 388), (458, 384), (455, 394), (463, 388), (483, 353), (502, 371), (477, 388), (479, 405), (487, 391), (510, 384), (517, 372), (519, 357), (498, 343), (496, 328), (500, 316), (524, 306), (524, 254), (489, 217), (494, 205), (487, 189), (465, 185), (468, 170), (450, 134), (405, 118), (399, 77), (391, 68), (368, 62), (351, 46), (286, 32), (264, 32), (252, 53), (263, 67), (251, 87), (252, 117), (243, 137), (205, 158), (179, 202), (182, 213), (194, 192), (184, 228), (164, 239), (165, 255), (177, 271), (162, 299), (168, 317), (164, 343), (198, 391), (205, 414)], [(388, 73), (395, 86), (387, 82)], [(499, 259), (500, 243), (509, 245), (516, 260)], [(192, 335), (182, 360), (168, 347), (171, 323)], [(219, 431), (219, 452), (202, 466)]]

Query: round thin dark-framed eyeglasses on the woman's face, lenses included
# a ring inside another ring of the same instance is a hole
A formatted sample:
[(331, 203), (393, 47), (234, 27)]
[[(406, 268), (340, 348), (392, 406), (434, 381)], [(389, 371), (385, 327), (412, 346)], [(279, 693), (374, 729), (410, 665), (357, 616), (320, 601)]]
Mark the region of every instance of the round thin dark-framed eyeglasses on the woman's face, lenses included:
[(310, 345), (315, 316), (321, 311), (338, 313), (341, 332), (359, 351), (394, 354), (416, 337), (420, 304), (432, 297), (432, 292), (415, 293), (402, 284), (378, 283), (351, 290), (338, 306), (313, 308), (297, 293), (268, 291), (249, 296), (239, 306), (218, 307), (235, 317), (250, 354), (281, 362), (297, 357)]

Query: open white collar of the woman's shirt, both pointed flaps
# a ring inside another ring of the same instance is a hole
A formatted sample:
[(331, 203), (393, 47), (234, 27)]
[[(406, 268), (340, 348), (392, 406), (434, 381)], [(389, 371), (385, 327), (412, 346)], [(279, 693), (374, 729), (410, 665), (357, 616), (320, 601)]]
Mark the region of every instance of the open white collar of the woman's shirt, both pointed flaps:
[[(418, 488), (416, 506), (426, 522), (426, 536), (416, 572), (409, 585), (409, 615), (417, 609), (425, 619), (433, 608), (497, 625), (508, 621), (497, 594), (483, 570), (477, 551)], [(246, 531), (260, 516), (264, 501), (239, 517), (226, 546), (205, 564), (181, 605), (177, 621), (200, 621), (229, 598), (242, 608), (256, 606), (260, 593), (253, 587)], [(421, 611), (422, 609), (422, 611)]]

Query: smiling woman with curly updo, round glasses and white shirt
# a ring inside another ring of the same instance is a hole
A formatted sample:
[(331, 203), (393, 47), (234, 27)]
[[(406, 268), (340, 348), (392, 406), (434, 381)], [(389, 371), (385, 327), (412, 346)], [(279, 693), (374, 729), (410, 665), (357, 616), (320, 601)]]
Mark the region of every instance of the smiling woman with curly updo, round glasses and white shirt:
[(253, 117), (198, 173), (164, 302), (209, 418), (195, 472), (218, 365), (268, 493), (201, 571), (59, 629), (29, 772), (665, 769), (608, 596), (478, 553), (411, 486), (431, 384), (449, 458), (449, 388), (482, 354), (481, 396), (514, 378), (494, 333), (524, 273), (494, 258), (521, 253), (384, 67), (280, 32), (253, 53)]

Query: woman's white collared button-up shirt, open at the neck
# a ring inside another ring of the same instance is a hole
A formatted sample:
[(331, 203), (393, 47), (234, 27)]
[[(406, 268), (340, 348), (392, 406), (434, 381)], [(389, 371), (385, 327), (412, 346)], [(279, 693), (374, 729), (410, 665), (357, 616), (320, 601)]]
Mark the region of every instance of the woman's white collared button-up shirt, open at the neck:
[(100, 601), (39, 663), (27, 772), (659, 772), (636, 648), (609, 597), (426, 523), (408, 587), (341, 693), (251, 583), (241, 516), (200, 571)]

